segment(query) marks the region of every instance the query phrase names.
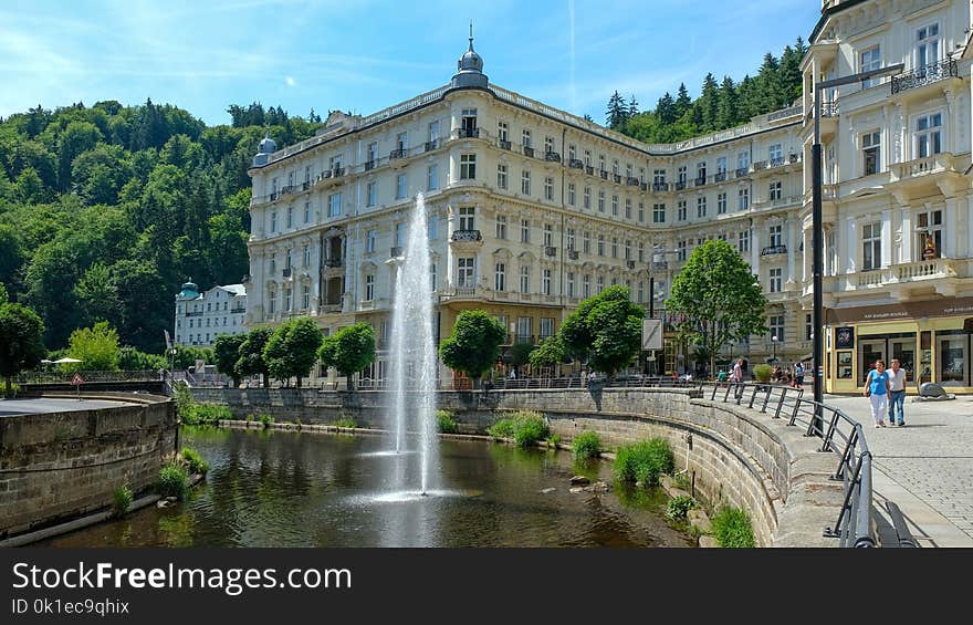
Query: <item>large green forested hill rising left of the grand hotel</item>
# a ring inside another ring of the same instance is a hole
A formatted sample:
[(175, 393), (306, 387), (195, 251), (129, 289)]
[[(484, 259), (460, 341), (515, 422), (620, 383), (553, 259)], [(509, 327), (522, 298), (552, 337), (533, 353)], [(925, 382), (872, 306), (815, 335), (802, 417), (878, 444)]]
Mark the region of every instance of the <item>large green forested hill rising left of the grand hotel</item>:
[(106, 320), (121, 342), (161, 353), (174, 295), (248, 272), (250, 179), (270, 129), (279, 147), (320, 116), (231, 105), (230, 125), (146, 101), (98, 102), (0, 121), (0, 283), (44, 321), (55, 350)]

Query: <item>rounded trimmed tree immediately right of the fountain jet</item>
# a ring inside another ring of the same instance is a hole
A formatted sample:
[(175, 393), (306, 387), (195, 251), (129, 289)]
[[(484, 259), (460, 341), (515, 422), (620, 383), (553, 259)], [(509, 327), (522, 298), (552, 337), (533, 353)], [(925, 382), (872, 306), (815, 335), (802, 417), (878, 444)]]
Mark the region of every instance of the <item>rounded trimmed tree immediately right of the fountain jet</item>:
[(486, 311), (462, 311), (439, 355), (446, 366), (479, 381), (496, 363), (505, 336), (506, 330)]

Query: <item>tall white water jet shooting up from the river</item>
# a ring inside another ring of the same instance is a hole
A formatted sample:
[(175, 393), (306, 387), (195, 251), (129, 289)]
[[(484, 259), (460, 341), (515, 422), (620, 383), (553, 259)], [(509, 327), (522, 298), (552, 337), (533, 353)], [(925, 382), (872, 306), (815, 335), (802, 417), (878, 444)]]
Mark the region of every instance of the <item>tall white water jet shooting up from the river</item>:
[[(427, 233), (426, 199), (416, 196), (402, 256), (397, 267), (393, 303), (391, 375), (395, 450), (406, 451), (406, 430), (419, 434), (420, 496), (438, 486), (436, 427), (436, 344), (432, 334), (431, 256)], [(409, 490), (408, 473), (399, 471), (394, 488)], [(415, 485), (411, 485), (415, 488)]]

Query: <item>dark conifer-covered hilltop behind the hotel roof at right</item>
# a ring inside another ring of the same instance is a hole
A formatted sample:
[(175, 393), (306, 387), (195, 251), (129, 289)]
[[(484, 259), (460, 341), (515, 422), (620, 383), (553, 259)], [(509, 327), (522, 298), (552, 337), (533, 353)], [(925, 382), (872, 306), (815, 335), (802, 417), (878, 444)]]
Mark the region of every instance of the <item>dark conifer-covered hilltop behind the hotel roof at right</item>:
[(767, 52), (756, 76), (734, 82), (713, 74), (703, 79), (700, 96), (692, 100), (684, 84), (673, 98), (668, 92), (651, 111), (639, 113), (635, 98), (628, 102), (616, 91), (608, 100), (605, 124), (646, 143), (672, 143), (750, 122), (752, 117), (791, 106), (801, 97), (801, 60), (807, 52), (804, 40), (784, 48), (780, 58)]

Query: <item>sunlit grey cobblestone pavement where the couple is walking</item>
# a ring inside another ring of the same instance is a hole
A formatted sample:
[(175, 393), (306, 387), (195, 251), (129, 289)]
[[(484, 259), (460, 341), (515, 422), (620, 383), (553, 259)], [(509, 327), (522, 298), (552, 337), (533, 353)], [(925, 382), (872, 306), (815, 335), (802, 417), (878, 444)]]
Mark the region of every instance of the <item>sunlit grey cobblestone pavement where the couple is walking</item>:
[(906, 427), (872, 426), (865, 397), (826, 395), (865, 426), (877, 502), (894, 501), (922, 546), (973, 546), (973, 397), (906, 398)]

